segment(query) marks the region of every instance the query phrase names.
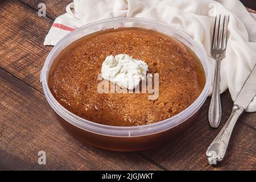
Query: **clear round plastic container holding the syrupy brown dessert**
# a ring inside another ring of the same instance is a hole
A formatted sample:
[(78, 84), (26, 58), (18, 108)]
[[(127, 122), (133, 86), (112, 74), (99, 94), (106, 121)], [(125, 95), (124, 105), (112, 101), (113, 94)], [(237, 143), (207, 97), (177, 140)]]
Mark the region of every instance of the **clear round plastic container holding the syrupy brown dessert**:
[[(181, 113), (171, 118), (143, 126), (108, 126), (90, 122), (71, 113), (56, 101), (48, 88), (48, 75), (56, 56), (75, 40), (93, 32), (118, 27), (147, 28), (171, 36), (187, 45), (200, 59), (205, 72), (205, 86), (200, 96), (193, 104)], [(86, 24), (69, 33), (49, 53), (41, 72), (40, 81), (49, 105), (55, 110), (59, 122), (76, 138), (92, 146), (115, 151), (137, 151), (145, 150), (166, 143), (181, 134), (196, 121), (196, 114), (204, 101), (207, 99), (210, 88), (210, 71), (207, 55), (203, 47), (200, 47), (193, 39), (183, 32), (168, 24), (156, 22), (155, 20), (142, 18), (114, 18)]]

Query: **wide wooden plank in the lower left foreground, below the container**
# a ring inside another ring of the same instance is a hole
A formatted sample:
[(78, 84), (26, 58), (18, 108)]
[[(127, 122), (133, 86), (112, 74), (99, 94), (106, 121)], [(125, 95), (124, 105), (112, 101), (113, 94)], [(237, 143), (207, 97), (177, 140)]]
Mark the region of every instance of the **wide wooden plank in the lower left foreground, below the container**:
[[(0, 168), (155, 169), (138, 152), (111, 152), (73, 138), (57, 123), (43, 94), (0, 69)], [(47, 164), (38, 164), (38, 151)]]

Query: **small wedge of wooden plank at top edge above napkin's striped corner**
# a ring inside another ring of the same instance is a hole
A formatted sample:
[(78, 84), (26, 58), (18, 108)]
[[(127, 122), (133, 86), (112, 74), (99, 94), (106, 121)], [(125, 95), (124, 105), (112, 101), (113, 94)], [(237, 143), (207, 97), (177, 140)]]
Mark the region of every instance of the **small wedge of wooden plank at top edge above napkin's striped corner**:
[(38, 4), (39, 3), (45, 3), (46, 4), (46, 15), (51, 18), (55, 19), (57, 16), (64, 14), (65, 7), (73, 2), (72, 0), (20, 0), (23, 3), (26, 3), (30, 7), (32, 7), (35, 10), (38, 10)]

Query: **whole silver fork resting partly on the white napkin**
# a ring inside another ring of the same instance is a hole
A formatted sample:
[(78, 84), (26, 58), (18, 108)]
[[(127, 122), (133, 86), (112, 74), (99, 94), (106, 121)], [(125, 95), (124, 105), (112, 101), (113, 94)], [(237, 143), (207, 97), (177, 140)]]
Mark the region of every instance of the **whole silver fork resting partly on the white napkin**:
[(219, 88), (220, 63), (221, 60), (224, 59), (226, 53), (226, 44), (228, 42), (228, 22), (229, 16), (225, 15), (221, 27), (221, 15), (218, 18), (216, 16), (213, 28), (211, 54), (212, 57), (216, 60), (216, 68), (214, 74), (212, 98), (210, 100), (208, 112), (209, 123), (212, 127), (218, 127), (221, 121), (221, 101)]

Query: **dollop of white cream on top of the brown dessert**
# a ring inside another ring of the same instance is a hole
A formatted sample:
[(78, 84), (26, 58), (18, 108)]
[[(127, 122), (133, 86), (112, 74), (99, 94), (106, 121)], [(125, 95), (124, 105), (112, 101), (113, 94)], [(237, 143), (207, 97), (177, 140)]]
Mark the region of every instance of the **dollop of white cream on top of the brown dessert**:
[(126, 54), (107, 56), (102, 63), (101, 76), (121, 88), (134, 89), (146, 78), (147, 64)]

